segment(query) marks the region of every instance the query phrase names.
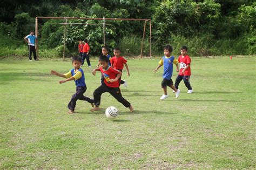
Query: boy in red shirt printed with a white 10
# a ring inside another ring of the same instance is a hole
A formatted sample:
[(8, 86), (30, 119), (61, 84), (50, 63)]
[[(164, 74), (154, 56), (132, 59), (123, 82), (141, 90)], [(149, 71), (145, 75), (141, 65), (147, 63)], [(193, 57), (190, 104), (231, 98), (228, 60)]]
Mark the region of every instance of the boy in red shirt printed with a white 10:
[(190, 63), (191, 59), (190, 56), (187, 55), (187, 47), (181, 46), (180, 49), (181, 55), (178, 58), (179, 64), (180, 64), (180, 71), (179, 75), (175, 80), (175, 88), (178, 89), (179, 83), (181, 80), (184, 81), (184, 84), (186, 85), (188, 91), (188, 94), (193, 93), (192, 87), (190, 85), (190, 76), (191, 76), (191, 70), (190, 70)]

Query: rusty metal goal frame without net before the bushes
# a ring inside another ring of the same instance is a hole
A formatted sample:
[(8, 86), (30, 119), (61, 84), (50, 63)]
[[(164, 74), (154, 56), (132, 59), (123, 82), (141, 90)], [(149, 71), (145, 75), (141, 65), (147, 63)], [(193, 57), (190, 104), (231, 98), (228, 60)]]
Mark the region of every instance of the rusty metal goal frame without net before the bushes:
[[(143, 42), (144, 42), (144, 37), (145, 37), (145, 29), (146, 29), (146, 22), (150, 23), (150, 47), (149, 47), (149, 53), (150, 53), (150, 59), (151, 59), (151, 37), (152, 37), (152, 23), (151, 23), (151, 19), (135, 19), (135, 18), (84, 18), (84, 17), (36, 17), (36, 22), (35, 22), (35, 33), (36, 36), (38, 37), (38, 19), (64, 19), (64, 26), (66, 26), (68, 23), (66, 22), (67, 19), (84, 19), (84, 20), (102, 20), (103, 21), (103, 41), (104, 41), (104, 45), (105, 45), (105, 21), (106, 20), (110, 20), (110, 21), (144, 21), (144, 30), (143, 30), (143, 38), (142, 38), (142, 45), (141, 45), (141, 49), (140, 49), (140, 58), (142, 58), (142, 52), (143, 52)], [(80, 23), (75, 23), (75, 24), (80, 24)], [(65, 35), (65, 32), (64, 32)], [(64, 38), (64, 44), (65, 44), (65, 38)], [(64, 47), (65, 48), (65, 47)], [(36, 52), (37, 52), (37, 60), (38, 60), (38, 40), (36, 43)], [(64, 60), (64, 54), (63, 54), (63, 60)]]

